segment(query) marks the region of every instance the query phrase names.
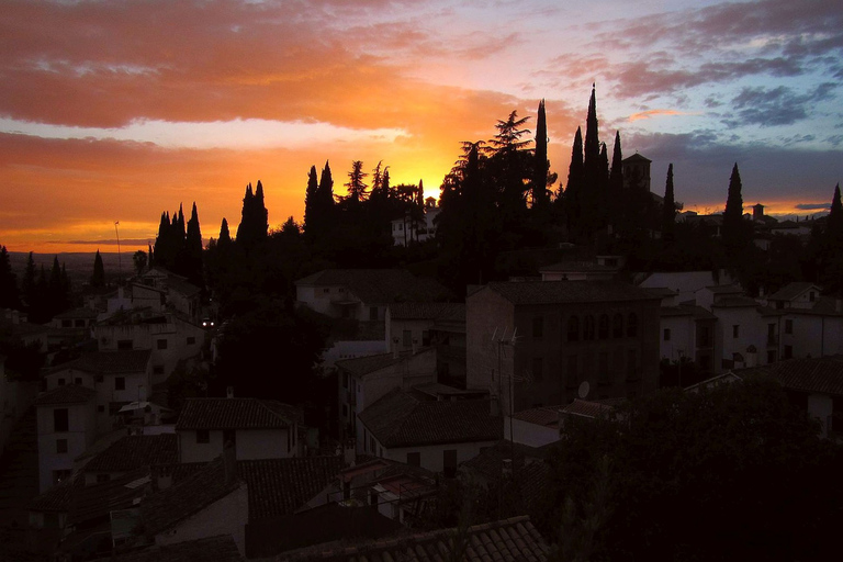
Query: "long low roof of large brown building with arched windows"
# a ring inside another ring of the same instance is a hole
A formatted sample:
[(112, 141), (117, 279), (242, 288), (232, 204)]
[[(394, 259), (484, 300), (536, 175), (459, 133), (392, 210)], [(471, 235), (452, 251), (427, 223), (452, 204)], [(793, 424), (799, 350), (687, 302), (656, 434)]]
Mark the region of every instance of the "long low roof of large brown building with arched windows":
[(660, 300), (643, 289), (617, 281), (517, 281), (490, 283), (486, 289), (498, 293), (513, 304)]

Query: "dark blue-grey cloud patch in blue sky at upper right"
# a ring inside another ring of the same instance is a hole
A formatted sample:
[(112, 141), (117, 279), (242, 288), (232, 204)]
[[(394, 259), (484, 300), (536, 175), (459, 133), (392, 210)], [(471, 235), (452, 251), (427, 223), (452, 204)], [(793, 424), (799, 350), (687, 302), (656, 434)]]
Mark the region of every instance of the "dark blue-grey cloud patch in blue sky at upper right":
[(797, 93), (793, 88), (785, 86), (743, 88), (732, 99), (734, 113), (728, 115), (723, 123), (731, 127), (791, 125), (808, 119), (811, 105), (831, 98), (836, 87), (834, 83), (825, 82), (807, 93)]

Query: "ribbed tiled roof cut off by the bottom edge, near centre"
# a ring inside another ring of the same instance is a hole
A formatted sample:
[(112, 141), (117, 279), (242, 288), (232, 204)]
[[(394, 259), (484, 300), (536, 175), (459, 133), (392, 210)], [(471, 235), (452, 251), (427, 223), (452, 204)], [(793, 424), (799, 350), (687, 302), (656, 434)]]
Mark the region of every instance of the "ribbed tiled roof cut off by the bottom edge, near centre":
[[(411, 535), (352, 546), (316, 546), (278, 557), (279, 562), (434, 562), (448, 559), (458, 529)], [(464, 562), (542, 562), (549, 548), (529, 517), (475, 525), (467, 529)]]

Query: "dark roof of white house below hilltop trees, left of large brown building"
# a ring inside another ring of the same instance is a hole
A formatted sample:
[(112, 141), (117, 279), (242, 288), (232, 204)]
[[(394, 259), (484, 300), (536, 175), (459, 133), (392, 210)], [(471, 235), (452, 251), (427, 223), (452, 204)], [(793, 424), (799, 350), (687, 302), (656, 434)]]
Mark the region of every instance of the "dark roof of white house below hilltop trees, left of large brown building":
[(364, 303), (427, 302), (450, 296), (432, 279), (417, 278), (404, 269), (323, 269), (300, 279), (296, 285), (346, 286)]

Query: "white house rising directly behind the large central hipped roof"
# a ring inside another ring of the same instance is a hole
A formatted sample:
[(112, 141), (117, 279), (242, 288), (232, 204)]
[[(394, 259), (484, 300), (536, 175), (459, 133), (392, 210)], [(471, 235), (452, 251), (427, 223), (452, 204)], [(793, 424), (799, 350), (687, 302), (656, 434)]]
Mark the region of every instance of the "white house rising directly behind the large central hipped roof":
[(339, 394), (339, 422), (348, 436), (356, 436), (362, 452), (362, 436), (357, 416), (395, 387), (409, 390), (416, 384), (436, 382), (436, 353), (423, 348), (407, 353), (344, 359), (336, 362)]

